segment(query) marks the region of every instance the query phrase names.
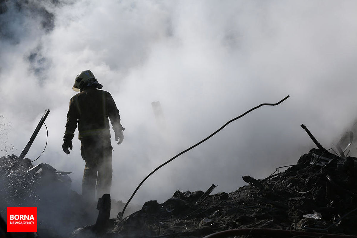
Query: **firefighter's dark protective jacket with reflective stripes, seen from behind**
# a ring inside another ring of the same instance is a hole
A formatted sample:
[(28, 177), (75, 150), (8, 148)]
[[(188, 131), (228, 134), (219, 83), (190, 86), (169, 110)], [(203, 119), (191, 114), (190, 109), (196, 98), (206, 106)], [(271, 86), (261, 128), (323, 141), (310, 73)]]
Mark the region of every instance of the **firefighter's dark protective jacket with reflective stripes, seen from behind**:
[(63, 140), (72, 140), (78, 122), (78, 138), (110, 138), (109, 120), (116, 135), (122, 131), (119, 110), (109, 92), (85, 87), (70, 100)]

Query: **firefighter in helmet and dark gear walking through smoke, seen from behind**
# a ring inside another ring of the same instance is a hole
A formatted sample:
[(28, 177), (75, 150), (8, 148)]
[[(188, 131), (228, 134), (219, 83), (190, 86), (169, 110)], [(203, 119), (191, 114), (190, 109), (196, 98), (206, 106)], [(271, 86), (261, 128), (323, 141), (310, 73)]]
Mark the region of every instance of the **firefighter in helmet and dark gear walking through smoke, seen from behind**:
[(112, 150), (110, 143), (109, 120), (115, 132), (118, 145), (123, 141), (124, 127), (120, 124), (119, 110), (109, 92), (90, 70), (80, 72), (72, 89), (77, 93), (69, 103), (66, 131), (63, 137), (63, 151), (68, 155), (72, 150), (72, 138), (77, 127), (81, 141), (81, 156), (85, 161), (82, 180), (82, 195), (92, 200), (110, 193), (112, 179)]

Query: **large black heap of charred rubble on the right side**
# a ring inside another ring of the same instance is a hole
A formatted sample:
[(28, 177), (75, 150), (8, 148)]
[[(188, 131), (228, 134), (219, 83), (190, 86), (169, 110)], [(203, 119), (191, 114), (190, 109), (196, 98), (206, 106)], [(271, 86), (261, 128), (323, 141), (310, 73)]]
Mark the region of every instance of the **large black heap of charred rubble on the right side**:
[[(357, 158), (312, 149), (284, 172), (265, 179), (243, 176), (249, 184), (237, 191), (208, 195), (213, 184), (206, 193), (176, 191), (162, 204), (148, 201), (124, 219), (110, 219), (101, 233), (87, 226), (72, 237), (195, 238), (231, 229), (251, 234), (265, 229), (265, 236), (250, 237), (266, 238), (299, 237), (301, 232), (357, 235), (356, 171)], [(289, 232), (269, 235), (272, 229)]]

